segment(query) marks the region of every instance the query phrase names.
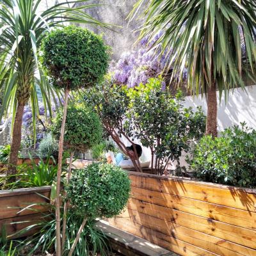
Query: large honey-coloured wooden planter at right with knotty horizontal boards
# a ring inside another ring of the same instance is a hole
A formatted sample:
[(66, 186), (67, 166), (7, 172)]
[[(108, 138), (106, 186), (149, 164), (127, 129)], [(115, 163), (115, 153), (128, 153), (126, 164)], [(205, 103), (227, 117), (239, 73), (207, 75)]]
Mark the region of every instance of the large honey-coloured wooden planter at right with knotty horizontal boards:
[(129, 172), (131, 198), (109, 220), (186, 256), (255, 256), (256, 189)]

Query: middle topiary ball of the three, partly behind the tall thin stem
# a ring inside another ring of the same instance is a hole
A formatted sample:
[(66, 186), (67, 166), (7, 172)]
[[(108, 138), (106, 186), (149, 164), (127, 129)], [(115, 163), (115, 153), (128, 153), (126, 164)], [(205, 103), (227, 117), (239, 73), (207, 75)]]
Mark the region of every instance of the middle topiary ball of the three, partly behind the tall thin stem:
[[(52, 133), (55, 138), (60, 138), (62, 116), (63, 111), (59, 111), (52, 122)], [(83, 104), (70, 104), (65, 124), (65, 147), (84, 152), (101, 140), (102, 125), (99, 116)]]

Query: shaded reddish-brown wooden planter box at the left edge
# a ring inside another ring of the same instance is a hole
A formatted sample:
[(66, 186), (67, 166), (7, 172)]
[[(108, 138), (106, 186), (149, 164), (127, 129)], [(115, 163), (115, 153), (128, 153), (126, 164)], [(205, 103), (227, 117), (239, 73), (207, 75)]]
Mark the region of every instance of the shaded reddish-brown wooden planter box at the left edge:
[[(42, 212), (49, 211), (49, 207), (47, 207), (47, 205), (33, 205), (32, 207), (30, 207), (31, 209), (26, 209), (25, 211), (21, 212), (19, 211), (32, 204), (49, 203), (49, 200), (47, 200), (43, 196), (50, 198), (50, 194), (51, 186), (1, 190), (0, 234), (3, 230), (3, 226), (6, 230), (7, 235), (10, 236), (22, 230), (23, 228), (28, 227), (29, 225), (41, 221), (42, 217), (44, 216)], [(17, 223), (19, 221), (20, 223)], [(22, 223), (22, 221), (26, 222)], [(33, 232), (35, 232), (35, 230), (31, 230), (31, 232), (23, 234), (23, 236), (28, 236), (29, 234), (33, 234)], [(12, 236), (10, 238), (15, 237), (18, 236)]]

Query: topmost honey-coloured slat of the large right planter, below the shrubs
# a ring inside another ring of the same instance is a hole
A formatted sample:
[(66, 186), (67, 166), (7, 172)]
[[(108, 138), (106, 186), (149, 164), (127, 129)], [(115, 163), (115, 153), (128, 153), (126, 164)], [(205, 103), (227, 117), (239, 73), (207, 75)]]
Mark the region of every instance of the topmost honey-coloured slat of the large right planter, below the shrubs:
[(234, 187), (217, 188), (216, 186), (205, 186), (205, 184), (196, 183), (195, 181), (189, 183), (189, 180), (183, 182), (182, 180), (161, 179), (161, 177), (153, 178), (152, 176), (155, 175), (147, 177), (147, 174), (135, 175), (132, 172), (129, 175), (131, 185), (137, 188), (256, 212), (255, 193), (246, 193), (243, 189), (236, 189)]

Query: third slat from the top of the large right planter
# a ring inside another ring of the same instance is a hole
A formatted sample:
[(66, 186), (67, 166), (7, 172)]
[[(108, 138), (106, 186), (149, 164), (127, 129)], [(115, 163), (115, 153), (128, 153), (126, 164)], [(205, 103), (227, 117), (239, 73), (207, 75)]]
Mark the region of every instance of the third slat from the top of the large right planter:
[(142, 212), (161, 220), (170, 221), (183, 227), (256, 249), (256, 232), (254, 230), (150, 204), (134, 198), (129, 199), (127, 207), (128, 209)]

